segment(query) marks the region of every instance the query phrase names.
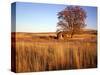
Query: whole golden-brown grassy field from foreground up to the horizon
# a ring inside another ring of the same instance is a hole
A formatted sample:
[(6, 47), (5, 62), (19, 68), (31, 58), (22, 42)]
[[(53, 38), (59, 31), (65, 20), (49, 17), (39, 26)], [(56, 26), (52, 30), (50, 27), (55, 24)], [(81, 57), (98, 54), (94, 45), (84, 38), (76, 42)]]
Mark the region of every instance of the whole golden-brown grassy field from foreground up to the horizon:
[(97, 34), (93, 33), (64, 40), (57, 40), (55, 33), (12, 33), (14, 50), (16, 72), (97, 67)]

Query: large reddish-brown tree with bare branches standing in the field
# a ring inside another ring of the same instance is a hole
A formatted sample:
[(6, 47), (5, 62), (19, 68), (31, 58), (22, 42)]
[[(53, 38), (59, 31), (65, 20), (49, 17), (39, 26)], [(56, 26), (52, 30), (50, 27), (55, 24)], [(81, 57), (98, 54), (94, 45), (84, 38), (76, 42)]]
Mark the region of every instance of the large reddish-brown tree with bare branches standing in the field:
[(87, 15), (80, 6), (67, 6), (57, 15), (59, 19), (57, 32), (69, 32), (71, 38), (86, 26), (85, 19)]

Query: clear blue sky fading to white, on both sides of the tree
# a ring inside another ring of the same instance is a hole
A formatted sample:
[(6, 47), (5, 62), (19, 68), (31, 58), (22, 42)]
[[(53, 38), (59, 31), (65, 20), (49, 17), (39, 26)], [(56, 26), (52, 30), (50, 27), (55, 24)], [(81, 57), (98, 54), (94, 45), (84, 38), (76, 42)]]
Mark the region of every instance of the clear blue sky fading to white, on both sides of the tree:
[[(57, 13), (67, 5), (43, 3), (16, 3), (16, 32), (55, 32)], [(13, 7), (12, 7), (13, 8)], [(87, 12), (86, 24), (89, 29), (97, 29), (97, 8), (82, 7)], [(12, 9), (14, 10), (15, 7)], [(15, 11), (13, 11), (15, 13)], [(14, 31), (14, 30), (13, 30)]]

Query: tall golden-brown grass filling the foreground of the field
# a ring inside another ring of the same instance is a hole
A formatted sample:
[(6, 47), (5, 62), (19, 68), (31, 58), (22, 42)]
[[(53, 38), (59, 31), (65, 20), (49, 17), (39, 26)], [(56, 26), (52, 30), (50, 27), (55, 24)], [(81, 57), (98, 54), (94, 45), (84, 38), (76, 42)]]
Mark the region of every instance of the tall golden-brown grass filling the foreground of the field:
[(97, 67), (96, 42), (16, 41), (16, 72)]

